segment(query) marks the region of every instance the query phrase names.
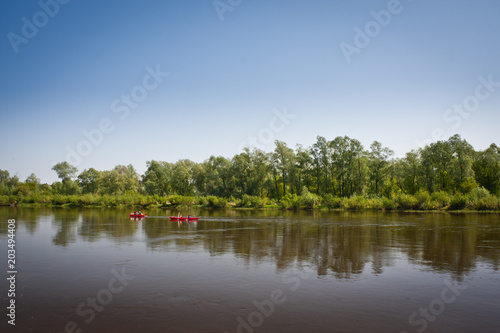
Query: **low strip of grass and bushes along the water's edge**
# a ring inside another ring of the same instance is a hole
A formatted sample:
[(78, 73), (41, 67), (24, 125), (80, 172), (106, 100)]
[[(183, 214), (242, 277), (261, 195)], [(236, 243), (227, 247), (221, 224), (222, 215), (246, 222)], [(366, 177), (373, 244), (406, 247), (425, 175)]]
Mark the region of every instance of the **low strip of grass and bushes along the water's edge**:
[(416, 195), (397, 194), (393, 197), (352, 196), (349, 198), (312, 193), (287, 194), (280, 200), (244, 195), (242, 198), (216, 196), (158, 196), (138, 193), (123, 195), (61, 195), (31, 194), (28, 196), (0, 196), (2, 206), (39, 207), (176, 207), (206, 208), (277, 208), (277, 209), (339, 209), (381, 211), (500, 211), (500, 199), (487, 191), (477, 189), (469, 194), (420, 192)]

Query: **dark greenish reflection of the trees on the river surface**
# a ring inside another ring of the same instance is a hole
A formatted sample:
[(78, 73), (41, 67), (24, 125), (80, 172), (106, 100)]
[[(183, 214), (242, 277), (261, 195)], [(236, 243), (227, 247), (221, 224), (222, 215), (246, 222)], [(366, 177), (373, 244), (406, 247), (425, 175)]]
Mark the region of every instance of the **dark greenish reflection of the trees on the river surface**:
[(10, 209), (7, 218), (35, 235), (50, 223), (52, 243), (144, 243), (151, 251), (232, 254), (247, 264), (273, 262), (278, 270), (312, 267), (319, 276), (349, 279), (367, 265), (381, 274), (396, 259), (407, 259), (460, 279), (485, 263), (499, 269), (500, 228), (496, 214), (389, 214), (379, 212), (195, 211), (199, 222), (170, 222), (173, 212), (130, 220), (124, 209)]

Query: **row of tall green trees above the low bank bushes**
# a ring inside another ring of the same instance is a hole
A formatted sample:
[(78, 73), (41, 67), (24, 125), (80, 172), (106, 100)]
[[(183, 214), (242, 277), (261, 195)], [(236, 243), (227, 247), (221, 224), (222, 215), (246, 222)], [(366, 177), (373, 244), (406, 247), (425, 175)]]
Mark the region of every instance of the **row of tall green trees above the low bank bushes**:
[(484, 151), (476, 151), (459, 135), (412, 150), (403, 158), (394, 158), (394, 152), (377, 141), (365, 149), (348, 136), (333, 140), (318, 136), (308, 148), (297, 145), (293, 149), (277, 140), (271, 152), (246, 148), (232, 158), (210, 156), (201, 163), (188, 159), (175, 163), (151, 160), (143, 175), (132, 165), (105, 171), (90, 168), (78, 173), (76, 167), (61, 162), (52, 170), (60, 181), (51, 185), (40, 184), (34, 174), (21, 182), (0, 170), (0, 195), (22, 200), (33, 193), (134, 193), (228, 200), (256, 197), (283, 202), (307, 194), (320, 202), (424, 192), (466, 195), (477, 189), (500, 194), (499, 147), (493, 143)]

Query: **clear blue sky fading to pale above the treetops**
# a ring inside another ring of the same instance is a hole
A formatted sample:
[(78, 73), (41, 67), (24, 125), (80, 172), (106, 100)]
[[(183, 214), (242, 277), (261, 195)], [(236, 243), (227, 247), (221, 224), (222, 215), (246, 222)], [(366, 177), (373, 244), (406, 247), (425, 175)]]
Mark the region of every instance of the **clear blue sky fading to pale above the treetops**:
[(317, 135), (500, 144), (498, 1), (60, 1), (0, 3), (0, 169), (21, 180)]

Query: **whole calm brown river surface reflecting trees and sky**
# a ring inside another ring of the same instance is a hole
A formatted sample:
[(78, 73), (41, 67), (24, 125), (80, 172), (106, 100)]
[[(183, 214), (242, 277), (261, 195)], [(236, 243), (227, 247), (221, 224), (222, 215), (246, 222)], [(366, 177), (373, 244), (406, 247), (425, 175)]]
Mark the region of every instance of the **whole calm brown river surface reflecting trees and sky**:
[(148, 213), (0, 208), (0, 331), (500, 331), (498, 214)]

